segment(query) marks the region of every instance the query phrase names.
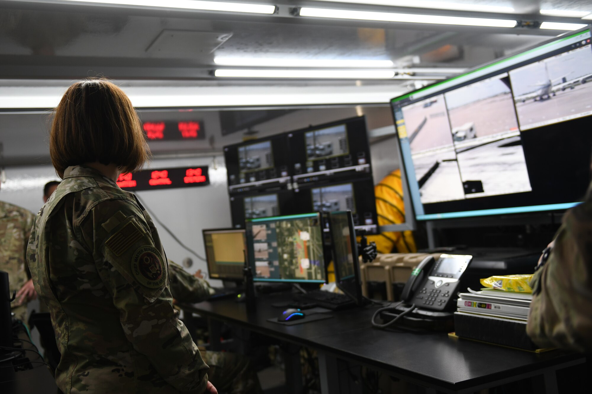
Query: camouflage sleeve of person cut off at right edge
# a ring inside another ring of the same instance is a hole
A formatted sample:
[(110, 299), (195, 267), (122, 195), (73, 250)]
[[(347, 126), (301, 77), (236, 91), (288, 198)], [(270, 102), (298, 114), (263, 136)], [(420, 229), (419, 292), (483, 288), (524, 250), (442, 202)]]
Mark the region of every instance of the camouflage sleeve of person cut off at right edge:
[(527, 333), (541, 347), (592, 351), (592, 185), (568, 210), (531, 283)]

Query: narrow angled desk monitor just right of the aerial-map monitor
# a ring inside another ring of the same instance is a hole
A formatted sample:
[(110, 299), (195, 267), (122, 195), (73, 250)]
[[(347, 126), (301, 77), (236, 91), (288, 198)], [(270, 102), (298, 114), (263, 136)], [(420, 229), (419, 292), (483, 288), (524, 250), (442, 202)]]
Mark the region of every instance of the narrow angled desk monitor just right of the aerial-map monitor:
[(337, 287), (356, 304), (362, 305), (362, 279), (352, 212), (332, 212), (329, 214), (329, 223)]

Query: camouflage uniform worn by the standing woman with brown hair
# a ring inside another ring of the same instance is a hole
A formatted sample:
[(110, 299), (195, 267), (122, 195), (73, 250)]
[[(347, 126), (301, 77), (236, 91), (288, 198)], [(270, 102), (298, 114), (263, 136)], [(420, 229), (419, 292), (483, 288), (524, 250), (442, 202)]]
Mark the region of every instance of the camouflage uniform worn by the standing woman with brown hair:
[(66, 168), (27, 258), (52, 315), (64, 393), (205, 392), (208, 366), (178, 320), (165, 252), (133, 194), (91, 168)]

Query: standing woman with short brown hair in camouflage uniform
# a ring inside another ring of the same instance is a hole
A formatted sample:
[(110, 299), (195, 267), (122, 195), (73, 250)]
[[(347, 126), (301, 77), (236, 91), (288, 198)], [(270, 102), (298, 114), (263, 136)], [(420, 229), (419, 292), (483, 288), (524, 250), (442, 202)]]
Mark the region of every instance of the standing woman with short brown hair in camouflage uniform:
[(58, 388), (217, 393), (173, 308), (152, 218), (116, 183), (149, 157), (123, 90), (104, 79), (72, 84), (54, 113), (50, 157), (63, 181), (37, 214), (27, 259), (55, 329)]

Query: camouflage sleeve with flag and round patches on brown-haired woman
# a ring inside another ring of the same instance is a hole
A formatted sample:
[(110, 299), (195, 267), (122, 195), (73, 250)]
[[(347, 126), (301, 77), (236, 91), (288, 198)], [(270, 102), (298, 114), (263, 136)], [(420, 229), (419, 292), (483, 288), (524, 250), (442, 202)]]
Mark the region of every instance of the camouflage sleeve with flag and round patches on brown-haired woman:
[(208, 366), (173, 308), (166, 257), (139, 207), (128, 200), (103, 201), (84, 219), (79, 236), (94, 251), (133, 348), (179, 392), (205, 392)]

